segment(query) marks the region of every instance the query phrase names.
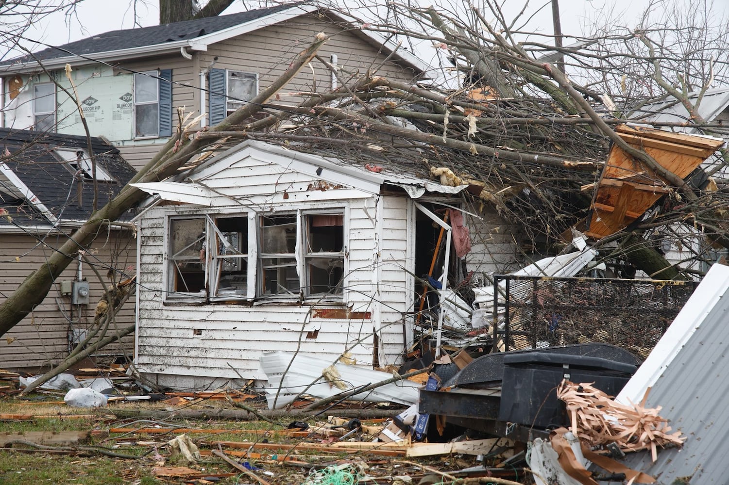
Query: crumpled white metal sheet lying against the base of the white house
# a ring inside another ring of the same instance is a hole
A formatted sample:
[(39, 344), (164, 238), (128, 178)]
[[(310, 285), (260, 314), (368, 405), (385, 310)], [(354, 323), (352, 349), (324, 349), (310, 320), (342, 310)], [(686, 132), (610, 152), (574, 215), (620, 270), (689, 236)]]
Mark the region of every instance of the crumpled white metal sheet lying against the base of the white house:
[[(274, 401), (276, 401), (276, 408), (282, 408), (292, 403), (294, 398), (303, 391), (315, 398), (328, 398), (346, 392), (323, 379), (307, 389), (308, 385), (321, 378), (324, 368), (330, 365), (327, 360), (289, 352), (265, 352), (260, 357), (260, 363), (268, 377), (266, 399), (269, 409), (273, 409)], [(373, 371), (343, 363), (336, 363), (334, 367), (349, 389), (375, 384), (392, 377), (392, 374), (387, 372)], [(278, 398), (276, 398), (276, 393), (278, 393)], [(410, 406), (418, 401), (418, 384), (408, 380), (392, 382), (365, 393), (351, 395), (348, 400), (370, 403), (389, 402)]]

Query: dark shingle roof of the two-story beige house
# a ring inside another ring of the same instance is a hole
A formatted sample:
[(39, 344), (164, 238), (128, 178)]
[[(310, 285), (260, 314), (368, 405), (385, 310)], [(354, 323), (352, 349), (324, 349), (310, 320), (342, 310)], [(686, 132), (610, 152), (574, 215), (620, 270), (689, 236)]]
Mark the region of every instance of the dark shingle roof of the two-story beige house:
[(98, 35), (87, 37), (76, 42), (70, 42), (69, 44), (63, 44), (58, 47), (49, 47), (35, 52), (32, 57), (26, 55), (7, 60), (0, 63), (0, 66), (34, 60), (34, 58), (50, 60), (65, 58), (69, 55), (92, 56), (97, 52), (132, 49), (133, 47), (196, 39), (200, 36), (222, 31), (241, 23), (281, 12), (292, 6), (294, 5), (284, 4), (230, 15), (219, 15), (217, 17), (207, 17), (198, 20), (185, 20), (184, 22), (153, 25), (152, 27), (128, 28), (120, 31), (99, 33)]

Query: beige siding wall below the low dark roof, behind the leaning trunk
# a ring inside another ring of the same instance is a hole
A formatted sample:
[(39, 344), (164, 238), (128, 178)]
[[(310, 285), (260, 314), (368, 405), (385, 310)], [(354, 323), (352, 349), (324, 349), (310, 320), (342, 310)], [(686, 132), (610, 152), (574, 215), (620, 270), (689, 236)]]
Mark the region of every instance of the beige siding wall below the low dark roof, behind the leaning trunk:
[[(34, 237), (24, 234), (3, 234), (0, 246), (0, 261), (7, 268), (0, 276), (0, 301), (12, 292), (37, 269), (52, 253), (52, 249), (37, 245)], [(61, 245), (63, 238), (46, 237), (51, 247)], [(37, 245), (37, 247), (36, 247)], [(113, 256), (112, 256), (113, 255)], [(82, 273), (90, 283), (90, 304), (71, 305), (71, 297), (61, 294), (61, 281), (76, 278), (77, 264), (72, 263), (63, 271), (49, 291), (47, 297), (28, 317), (21, 320), (0, 340), (0, 367), (2, 368), (39, 368), (58, 363), (68, 355), (69, 318), (74, 320), (74, 328), (87, 328), (93, 323), (96, 303), (104, 294), (106, 272), (109, 267), (133, 275), (136, 272), (136, 241), (128, 232), (111, 232), (109, 237), (100, 237), (87, 257), (95, 263), (104, 279), (99, 282), (89, 264), (82, 265)], [(130, 299), (116, 318), (118, 328), (134, 322), (134, 302)], [(113, 324), (112, 324), (113, 326)], [(133, 335), (125, 337), (121, 344), (104, 348), (100, 355), (121, 355), (125, 350), (131, 357)]]

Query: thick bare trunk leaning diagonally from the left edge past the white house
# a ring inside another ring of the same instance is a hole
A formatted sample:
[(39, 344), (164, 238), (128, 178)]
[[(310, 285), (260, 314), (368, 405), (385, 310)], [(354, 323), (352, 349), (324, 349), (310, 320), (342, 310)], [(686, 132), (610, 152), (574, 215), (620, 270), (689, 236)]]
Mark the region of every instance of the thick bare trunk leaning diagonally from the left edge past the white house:
[[(230, 114), (219, 125), (208, 130), (208, 133), (231, 130), (231, 127), (239, 125), (251, 117), (252, 114), (260, 111), (263, 108), (262, 105), (268, 99), (276, 95), (276, 92), (281, 90), (282, 87), (298, 74), (303, 66), (306, 66), (313, 59), (319, 47), (326, 41), (326, 37), (317, 36), (315, 42), (298, 55), (280, 78), (250, 100), (249, 103), (246, 103), (241, 109)], [(130, 180), (130, 184), (160, 181), (169, 176), (173, 176), (177, 172), (177, 169), (187, 162), (192, 155), (217, 140), (214, 137), (194, 137), (190, 140), (183, 132), (182, 127), (179, 130), (178, 135), (170, 138), (155, 157), (152, 157), (152, 160)], [(179, 144), (178, 149), (176, 149), (177, 144)], [(79, 251), (88, 248), (98, 234), (102, 233), (101, 229), (104, 226), (112, 221), (116, 221), (125, 211), (143, 200), (144, 197), (147, 197), (147, 194), (141, 190), (130, 185), (125, 186), (117, 194), (117, 197), (114, 197), (103, 208), (93, 213), (85, 224), (79, 227), (77, 232), (74, 232), (61, 245), (61, 248), (58, 248), (46, 259), (44, 264), (34, 272), (31, 272), (12, 295), (0, 305), (0, 335), (5, 334), (10, 328), (20, 322), (20, 320), (23, 320), (36, 305), (43, 301), (48, 291), (50, 291), (53, 282), (61, 275), (63, 269), (66, 269), (71, 261), (76, 259)]]

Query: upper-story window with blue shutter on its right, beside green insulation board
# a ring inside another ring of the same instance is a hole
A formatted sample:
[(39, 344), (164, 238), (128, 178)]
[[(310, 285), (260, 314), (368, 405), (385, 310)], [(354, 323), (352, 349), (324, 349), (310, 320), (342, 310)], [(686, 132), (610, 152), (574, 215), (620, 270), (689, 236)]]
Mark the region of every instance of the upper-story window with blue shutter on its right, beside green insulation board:
[(172, 71), (134, 74), (134, 138), (172, 135)]

